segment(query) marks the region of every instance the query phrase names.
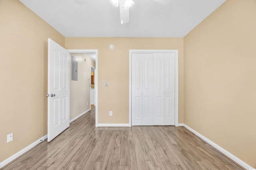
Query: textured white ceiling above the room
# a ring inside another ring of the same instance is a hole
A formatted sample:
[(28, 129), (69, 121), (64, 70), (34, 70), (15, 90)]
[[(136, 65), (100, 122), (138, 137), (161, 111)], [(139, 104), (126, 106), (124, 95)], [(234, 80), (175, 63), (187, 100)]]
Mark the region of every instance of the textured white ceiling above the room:
[(184, 37), (226, 0), (134, 0), (130, 22), (120, 23), (109, 0), (20, 0), (65, 37)]

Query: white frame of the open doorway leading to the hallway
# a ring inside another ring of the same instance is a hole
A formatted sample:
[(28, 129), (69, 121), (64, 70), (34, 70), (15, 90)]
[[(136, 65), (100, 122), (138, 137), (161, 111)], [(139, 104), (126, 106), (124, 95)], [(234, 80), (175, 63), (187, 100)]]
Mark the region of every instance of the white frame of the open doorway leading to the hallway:
[(97, 49), (72, 49), (68, 50), (69, 53), (95, 53), (95, 78), (94, 78), (94, 90), (95, 90), (95, 126), (98, 127), (98, 50)]

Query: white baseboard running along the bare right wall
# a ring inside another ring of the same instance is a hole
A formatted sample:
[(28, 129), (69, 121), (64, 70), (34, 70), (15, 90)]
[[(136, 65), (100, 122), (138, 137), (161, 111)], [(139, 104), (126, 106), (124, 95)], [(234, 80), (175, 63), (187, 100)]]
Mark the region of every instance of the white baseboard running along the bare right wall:
[[(180, 123), (183, 124), (183, 123)], [(228, 156), (230, 159), (234, 160), (236, 163), (240, 164), (242, 167), (244, 167), (247, 170), (254, 170), (254, 168), (248, 164), (246, 164), (244, 161), (242, 161), (241, 159), (239, 159), (238, 157), (234, 156), (233, 154), (231, 154), (230, 152), (228, 152), (227, 150), (223, 149), (222, 147), (220, 147), (219, 145), (217, 145), (216, 143), (212, 142), (210, 139), (204, 137), (203, 135), (201, 135), (200, 133), (198, 133), (197, 131), (195, 131), (194, 129), (192, 129), (191, 127), (189, 127), (188, 125), (183, 124), (184, 127), (186, 127), (186, 129), (188, 129), (189, 131), (191, 131), (192, 133), (194, 133), (195, 135), (197, 135), (198, 137), (200, 137), (201, 139), (203, 139), (204, 141), (206, 141), (207, 143), (209, 143), (210, 145), (212, 145), (214, 148), (216, 148), (217, 150), (219, 150), (220, 152), (222, 152), (223, 154), (225, 154), (226, 156)]]

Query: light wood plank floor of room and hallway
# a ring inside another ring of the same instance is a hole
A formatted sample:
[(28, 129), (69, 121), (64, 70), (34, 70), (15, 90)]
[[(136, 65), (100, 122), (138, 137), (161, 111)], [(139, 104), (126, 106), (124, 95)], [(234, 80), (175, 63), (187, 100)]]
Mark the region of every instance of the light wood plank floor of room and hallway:
[(95, 127), (95, 107), (3, 170), (243, 170), (184, 127)]

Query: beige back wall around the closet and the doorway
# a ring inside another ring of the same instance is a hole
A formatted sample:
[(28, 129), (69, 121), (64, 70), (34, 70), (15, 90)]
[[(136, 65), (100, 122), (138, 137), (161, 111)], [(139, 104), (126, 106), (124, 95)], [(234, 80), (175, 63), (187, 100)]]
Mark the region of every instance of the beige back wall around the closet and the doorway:
[[(178, 49), (179, 123), (183, 123), (183, 38), (66, 37), (65, 48), (98, 49), (98, 123), (129, 123), (129, 49)], [(109, 87), (104, 86), (106, 81)]]

